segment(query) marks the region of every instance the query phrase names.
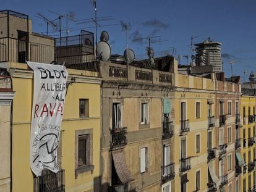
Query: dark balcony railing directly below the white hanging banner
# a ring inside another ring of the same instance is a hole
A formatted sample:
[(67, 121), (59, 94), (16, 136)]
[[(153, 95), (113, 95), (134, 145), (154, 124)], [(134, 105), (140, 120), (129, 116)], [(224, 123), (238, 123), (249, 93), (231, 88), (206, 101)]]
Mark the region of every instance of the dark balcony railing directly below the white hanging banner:
[(65, 170), (58, 173), (48, 169), (42, 171), (41, 176), (34, 178), (34, 192), (64, 192), (65, 191)]

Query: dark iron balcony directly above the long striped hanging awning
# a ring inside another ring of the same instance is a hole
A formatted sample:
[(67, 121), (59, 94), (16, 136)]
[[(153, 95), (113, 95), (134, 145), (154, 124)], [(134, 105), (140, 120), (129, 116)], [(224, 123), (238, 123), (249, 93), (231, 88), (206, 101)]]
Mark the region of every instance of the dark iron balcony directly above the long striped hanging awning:
[(127, 144), (127, 127), (113, 128), (111, 131), (111, 147), (121, 147)]

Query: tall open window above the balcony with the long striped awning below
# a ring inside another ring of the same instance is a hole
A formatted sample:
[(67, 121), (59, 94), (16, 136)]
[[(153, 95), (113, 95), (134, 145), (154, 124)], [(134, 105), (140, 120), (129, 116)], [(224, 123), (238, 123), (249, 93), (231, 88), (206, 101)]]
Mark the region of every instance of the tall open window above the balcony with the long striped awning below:
[(114, 102), (112, 105), (112, 128), (122, 127), (122, 104)]

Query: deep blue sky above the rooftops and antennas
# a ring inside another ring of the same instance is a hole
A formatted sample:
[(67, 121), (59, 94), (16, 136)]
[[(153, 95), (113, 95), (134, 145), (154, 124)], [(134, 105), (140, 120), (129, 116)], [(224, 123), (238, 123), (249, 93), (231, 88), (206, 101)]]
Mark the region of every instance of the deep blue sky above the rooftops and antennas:
[[(38, 0), (1, 0), (2, 9), (11, 9), (23, 14), (28, 14), (33, 20), (33, 31), (46, 32), (46, 24), (35, 17), (36, 13), (46, 15), (49, 19), (56, 19), (56, 15), (48, 10), (66, 14), (75, 12), (75, 20), (94, 17), (94, 10), (90, 0), (73, 1), (38, 1)], [(145, 58), (147, 40), (134, 41), (137, 38), (147, 36), (161, 36), (152, 41), (152, 47), (156, 56), (166, 53), (174, 56), (190, 56), (190, 37), (194, 43), (202, 42), (210, 37), (214, 41), (222, 43), (223, 70), (226, 76), (231, 75), (231, 60), (235, 61), (233, 73), (241, 75), (243, 71), (249, 75), (255, 70), (256, 60), (256, 1), (255, 0), (96, 0), (98, 17), (111, 16), (113, 20), (99, 22), (100, 25), (118, 24), (120, 20), (130, 22), (131, 30), (128, 32), (129, 48), (135, 52), (138, 59)], [(62, 25), (65, 26), (64, 20)], [(95, 32), (93, 23), (76, 25), (69, 22), (69, 35), (78, 35), (80, 28)], [(126, 46), (126, 33), (121, 31), (121, 25), (112, 25), (98, 28), (109, 33), (111, 54), (123, 54)], [(51, 28), (49, 27), (49, 31)], [(64, 36), (64, 33), (62, 36)], [(56, 35), (58, 32), (49, 33)], [(146, 44), (140, 44), (146, 43)], [(182, 57), (181, 64), (187, 64), (186, 57)]]

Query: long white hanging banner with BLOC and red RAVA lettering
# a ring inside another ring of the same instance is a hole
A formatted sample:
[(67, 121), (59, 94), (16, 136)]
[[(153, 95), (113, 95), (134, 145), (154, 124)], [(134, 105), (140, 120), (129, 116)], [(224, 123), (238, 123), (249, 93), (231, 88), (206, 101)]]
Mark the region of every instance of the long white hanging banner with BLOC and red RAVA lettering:
[(38, 177), (44, 168), (59, 171), (57, 149), (68, 73), (62, 65), (27, 63), (34, 71), (30, 167)]

